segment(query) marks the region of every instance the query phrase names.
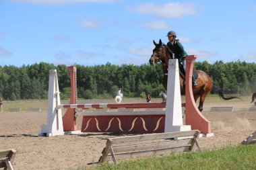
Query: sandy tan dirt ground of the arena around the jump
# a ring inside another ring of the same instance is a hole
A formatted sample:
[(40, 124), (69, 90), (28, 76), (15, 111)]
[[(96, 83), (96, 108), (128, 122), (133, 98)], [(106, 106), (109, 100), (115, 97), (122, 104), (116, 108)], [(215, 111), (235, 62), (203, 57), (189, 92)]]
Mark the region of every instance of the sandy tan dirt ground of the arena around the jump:
[[(210, 112), (213, 106), (233, 106), (233, 112)], [(256, 130), (256, 112), (249, 101), (205, 103), (202, 114), (212, 123), (214, 137), (199, 138), (202, 149), (240, 144)], [(46, 123), (43, 112), (0, 112), (0, 150), (15, 148), (14, 169), (75, 169), (98, 161), (111, 134), (38, 137)], [(82, 118), (77, 119), (81, 127)]]

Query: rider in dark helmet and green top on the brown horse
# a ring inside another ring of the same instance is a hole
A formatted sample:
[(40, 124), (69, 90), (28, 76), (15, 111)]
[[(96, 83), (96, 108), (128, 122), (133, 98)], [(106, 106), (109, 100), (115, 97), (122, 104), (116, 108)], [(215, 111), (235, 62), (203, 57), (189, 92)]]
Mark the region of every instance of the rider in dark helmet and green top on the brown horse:
[[(177, 37), (177, 34), (174, 31), (170, 31), (167, 34), (169, 42), (167, 43), (168, 48), (174, 53), (174, 58), (177, 58), (179, 60), (179, 63), (183, 65), (184, 70), (186, 71), (186, 56), (187, 52), (185, 52), (183, 46), (181, 45), (181, 42), (179, 40), (175, 40)], [(193, 86), (197, 85), (197, 81), (195, 80), (195, 77), (192, 75), (192, 83)]]

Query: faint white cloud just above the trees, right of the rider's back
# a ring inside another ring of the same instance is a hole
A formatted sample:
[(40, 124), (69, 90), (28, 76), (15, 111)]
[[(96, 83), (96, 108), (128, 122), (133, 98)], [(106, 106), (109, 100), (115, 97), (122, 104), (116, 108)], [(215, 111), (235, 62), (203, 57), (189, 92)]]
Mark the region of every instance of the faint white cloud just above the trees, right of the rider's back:
[(205, 51), (205, 50), (196, 50), (196, 49), (187, 49), (187, 54), (196, 55), (200, 60), (211, 60), (212, 57), (218, 55), (217, 52)]

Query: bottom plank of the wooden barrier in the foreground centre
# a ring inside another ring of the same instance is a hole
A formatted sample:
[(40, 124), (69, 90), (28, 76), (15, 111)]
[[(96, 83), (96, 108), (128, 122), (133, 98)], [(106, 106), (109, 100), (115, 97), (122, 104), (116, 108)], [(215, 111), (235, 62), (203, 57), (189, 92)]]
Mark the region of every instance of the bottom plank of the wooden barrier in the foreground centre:
[[(141, 157), (150, 157), (156, 155), (168, 155), (170, 153), (177, 153), (177, 152), (187, 152), (189, 151), (189, 146), (179, 147), (179, 148), (162, 148), (153, 151), (139, 151), (139, 152), (131, 152), (131, 153), (119, 153), (115, 154), (117, 161), (124, 160), (124, 159), (135, 159)], [(106, 157), (106, 161), (112, 161), (111, 155)]]

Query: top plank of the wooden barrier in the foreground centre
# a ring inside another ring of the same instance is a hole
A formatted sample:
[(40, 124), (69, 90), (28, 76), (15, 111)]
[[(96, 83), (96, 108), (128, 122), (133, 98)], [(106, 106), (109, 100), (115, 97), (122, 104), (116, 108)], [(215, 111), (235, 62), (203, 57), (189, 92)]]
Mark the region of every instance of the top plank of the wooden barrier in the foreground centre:
[(193, 138), (195, 133), (198, 130), (190, 130), (183, 132), (167, 132), (167, 133), (159, 133), (159, 134), (142, 134), (136, 136), (123, 136), (117, 138), (109, 138), (109, 140), (113, 141), (113, 144), (118, 144), (122, 142), (135, 142), (135, 141), (143, 141), (143, 140), (156, 140), (156, 139), (166, 139), (166, 138), (178, 138), (178, 137), (187, 137)]

